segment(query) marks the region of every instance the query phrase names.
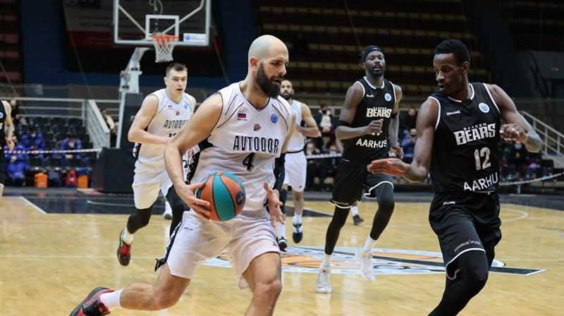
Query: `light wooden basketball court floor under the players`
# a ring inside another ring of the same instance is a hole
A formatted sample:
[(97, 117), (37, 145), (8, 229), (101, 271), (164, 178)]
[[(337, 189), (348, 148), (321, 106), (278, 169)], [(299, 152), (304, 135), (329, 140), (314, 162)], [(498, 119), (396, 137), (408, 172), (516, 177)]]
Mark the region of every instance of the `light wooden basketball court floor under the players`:
[[(397, 202), (376, 244), (376, 255), (384, 257), (386, 250), (409, 250), (403, 256), (390, 255), (403, 258), (403, 263), (375, 260), (376, 271), (386, 273), (379, 273), (374, 282), (358, 274), (333, 274), (331, 294), (315, 291), (315, 268), (330, 219), (306, 217), (300, 248), (290, 247), (284, 257), (288, 269), (305, 270), (283, 272), (283, 292), (274, 314), (427, 315), (441, 298), (445, 278), (436, 271), (415, 274), (419, 265), (410, 261), (441, 262), (433, 255), (414, 253), (439, 251), (427, 221), (428, 205)], [(306, 207), (333, 212), (327, 202), (306, 202)], [(366, 238), (375, 209), (374, 203), (364, 202), (360, 214), (367, 220), (353, 226), (349, 219), (338, 241), (345, 259), (336, 263), (343, 267), (333, 269), (357, 271), (356, 262), (346, 258), (352, 258), (348, 252)], [(564, 212), (505, 204), (501, 217), (503, 239), (496, 248), (496, 260), (507, 267), (539, 271), (529, 275), (492, 272), (484, 290), (460, 315), (564, 315)], [(0, 315), (68, 315), (96, 286), (121, 288), (133, 281), (154, 281), (154, 258), (163, 253), (170, 221), (154, 216), (135, 236), (131, 264), (121, 267), (115, 250), (125, 221), (125, 215), (46, 214), (24, 197), (2, 197)], [(290, 246), (295, 246), (289, 235)], [(308, 249), (317, 249), (317, 255), (308, 256)], [(160, 312), (116, 310), (112, 315), (243, 315), (250, 298), (250, 291), (236, 286), (231, 269), (206, 265), (175, 307)]]

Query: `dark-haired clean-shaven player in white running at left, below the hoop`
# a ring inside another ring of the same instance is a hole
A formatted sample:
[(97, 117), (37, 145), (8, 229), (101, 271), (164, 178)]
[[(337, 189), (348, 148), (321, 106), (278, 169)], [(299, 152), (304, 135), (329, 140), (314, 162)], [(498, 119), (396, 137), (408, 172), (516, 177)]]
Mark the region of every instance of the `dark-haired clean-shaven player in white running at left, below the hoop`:
[(196, 99), (184, 92), (187, 83), (186, 66), (171, 63), (166, 68), (166, 88), (147, 95), (131, 123), (128, 140), (135, 142), (133, 154), (137, 157), (132, 185), (135, 212), (120, 234), (117, 255), (121, 265), (129, 265), (133, 234), (149, 224), (159, 191), (173, 210), (171, 233), (182, 219), (185, 204), (166, 174), (163, 156), (165, 145), (190, 119), (196, 107)]

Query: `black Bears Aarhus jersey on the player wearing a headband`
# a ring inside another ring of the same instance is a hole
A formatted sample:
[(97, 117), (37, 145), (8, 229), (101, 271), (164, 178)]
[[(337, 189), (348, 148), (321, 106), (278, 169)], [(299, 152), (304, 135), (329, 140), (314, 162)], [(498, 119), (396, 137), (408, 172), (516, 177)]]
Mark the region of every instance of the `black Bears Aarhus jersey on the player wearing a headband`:
[(379, 135), (362, 135), (344, 141), (343, 160), (350, 164), (367, 164), (374, 159), (387, 158), (390, 149), (388, 128), (393, 105), (396, 104), (396, 90), (393, 84), (384, 78), (381, 87), (375, 87), (361, 78), (355, 85), (362, 85), (364, 97), (357, 105), (357, 111), (350, 127), (367, 126), (370, 122), (384, 119)]

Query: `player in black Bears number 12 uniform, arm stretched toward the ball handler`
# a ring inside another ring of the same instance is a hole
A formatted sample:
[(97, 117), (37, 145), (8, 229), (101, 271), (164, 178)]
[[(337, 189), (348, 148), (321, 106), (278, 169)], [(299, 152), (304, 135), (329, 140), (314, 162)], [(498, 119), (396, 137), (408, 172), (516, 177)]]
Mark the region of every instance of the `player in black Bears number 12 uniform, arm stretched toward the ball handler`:
[(435, 195), (429, 223), (439, 238), (447, 278), (441, 303), (429, 315), (447, 316), (457, 315), (482, 290), (501, 240), (499, 138), (518, 140), (529, 152), (540, 152), (542, 142), (500, 87), (468, 83), (465, 44), (446, 39), (434, 53), (440, 90), (419, 110), (413, 162), (380, 159), (367, 168), (411, 182), (431, 175)]

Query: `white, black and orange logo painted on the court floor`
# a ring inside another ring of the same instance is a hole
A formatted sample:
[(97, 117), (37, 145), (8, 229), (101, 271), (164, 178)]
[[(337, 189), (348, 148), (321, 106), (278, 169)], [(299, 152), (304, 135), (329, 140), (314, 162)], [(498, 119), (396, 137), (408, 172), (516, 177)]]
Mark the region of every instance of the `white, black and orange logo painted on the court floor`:
[[(317, 273), (323, 261), (324, 247), (290, 246), (282, 255), (282, 271), (296, 273)], [(223, 253), (204, 265), (213, 267), (231, 267), (226, 254)], [(374, 249), (372, 265), (376, 274), (444, 274), (443, 255), (435, 251), (411, 249)], [(360, 265), (355, 258), (355, 248), (337, 247), (331, 260), (332, 274), (358, 274)], [(507, 267), (504, 262), (494, 260), (491, 272), (517, 275), (532, 275), (544, 272), (546, 269), (529, 269)]]

